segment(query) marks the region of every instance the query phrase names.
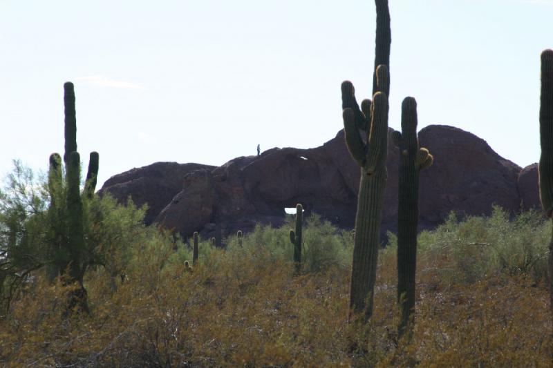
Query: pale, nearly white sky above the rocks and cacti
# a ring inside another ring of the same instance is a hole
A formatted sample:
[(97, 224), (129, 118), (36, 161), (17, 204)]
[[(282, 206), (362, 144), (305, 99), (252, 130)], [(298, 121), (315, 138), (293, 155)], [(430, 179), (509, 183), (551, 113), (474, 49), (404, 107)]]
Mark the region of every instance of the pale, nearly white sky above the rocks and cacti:
[[(553, 0), (390, 0), (389, 126), (447, 124), (519, 166), (539, 159), (539, 56)], [(83, 164), (98, 188), (153, 162), (221, 165), (342, 128), (341, 81), (371, 97), (369, 0), (0, 0), (0, 176), (47, 171), (75, 84)]]

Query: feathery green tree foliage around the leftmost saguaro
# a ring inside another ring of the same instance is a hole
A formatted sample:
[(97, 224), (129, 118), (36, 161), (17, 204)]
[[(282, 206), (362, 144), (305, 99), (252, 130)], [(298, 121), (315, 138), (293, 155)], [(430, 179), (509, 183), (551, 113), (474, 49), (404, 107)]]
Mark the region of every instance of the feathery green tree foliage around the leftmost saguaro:
[[(3, 311), (10, 307), (10, 301), (33, 272), (45, 269), (48, 280), (53, 281), (59, 269), (76, 258), (71, 251), (79, 252), (79, 268), (75, 272), (84, 276), (90, 267), (95, 270), (101, 267), (110, 275), (109, 283), (115, 291), (118, 278), (131, 262), (131, 249), (146, 241), (142, 235), (145, 208), (137, 209), (131, 202), (120, 206), (106, 194), (81, 203), (79, 221), (83, 233), (79, 248), (60, 246), (71, 235), (66, 232), (68, 220), (75, 219), (68, 219), (64, 211), (68, 201), (66, 186), (62, 185), (62, 192), (50, 197), (52, 186), (60, 184), (55, 178), (59, 174), (52, 175), (50, 170), (48, 182), (37, 180), (29, 168), (15, 162), (0, 191), (0, 307)], [(50, 200), (60, 206), (52, 206)]]

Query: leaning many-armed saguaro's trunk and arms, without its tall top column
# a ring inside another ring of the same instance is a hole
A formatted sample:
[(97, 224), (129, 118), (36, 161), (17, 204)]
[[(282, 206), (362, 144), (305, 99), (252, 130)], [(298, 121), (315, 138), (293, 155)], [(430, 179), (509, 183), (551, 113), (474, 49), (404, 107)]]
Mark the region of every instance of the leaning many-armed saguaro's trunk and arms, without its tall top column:
[[(346, 144), (361, 167), (355, 216), (350, 309), (355, 313), (364, 312), (365, 320), (373, 313), (379, 231), (388, 177), (388, 68), (385, 65), (378, 66), (376, 75), (378, 92), (373, 96), (372, 104), (370, 100), (364, 100), (361, 109), (355, 101), (353, 85), (345, 81), (341, 87)], [(359, 129), (364, 130), (365, 139), (359, 135)]]

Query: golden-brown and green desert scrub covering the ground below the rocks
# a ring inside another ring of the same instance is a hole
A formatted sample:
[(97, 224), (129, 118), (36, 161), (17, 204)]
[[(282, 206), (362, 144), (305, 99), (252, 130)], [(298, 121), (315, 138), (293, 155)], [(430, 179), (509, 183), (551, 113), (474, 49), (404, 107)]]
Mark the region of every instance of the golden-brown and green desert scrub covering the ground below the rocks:
[[(225, 240), (225, 249), (200, 240), (198, 263), (188, 270), (191, 247), (142, 226), (143, 209), (120, 207), (109, 196), (95, 203), (105, 214), (95, 222), (103, 237), (97, 246), (111, 242), (100, 253), (111, 256), (106, 264), (112, 266), (91, 266), (84, 275), (90, 313), (68, 314), (71, 284), (51, 282), (44, 267), (30, 271), (1, 312), (3, 365), (552, 364), (551, 226), (536, 213), (512, 221), (499, 208), (491, 217), (451, 215), (438, 229), (422, 232), (415, 324), (411, 336), (398, 341), (393, 234), (380, 251), (373, 316), (365, 324), (348, 322), (352, 233), (317, 216), (304, 223), (299, 274), (292, 262), (292, 218), (280, 229), (258, 226), (245, 233), (242, 246), (236, 236)], [(41, 224), (32, 226), (38, 231)], [(1, 291), (6, 297), (9, 290)]]

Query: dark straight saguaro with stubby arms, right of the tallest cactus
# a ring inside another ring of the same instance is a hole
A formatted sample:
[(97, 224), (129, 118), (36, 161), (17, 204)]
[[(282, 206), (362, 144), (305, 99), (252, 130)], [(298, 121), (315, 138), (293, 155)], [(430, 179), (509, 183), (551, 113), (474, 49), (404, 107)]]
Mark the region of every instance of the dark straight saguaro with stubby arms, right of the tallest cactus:
[(393, 142), (400, 148), (397, 208), (397, 302), (402, 313), (400, 335), (406, 329), (415, 307), (419, 173), (433, 162), (427, 148), (419, 148), (417, 122), (417, 101), (406, 97), (402, 104), (402, 132), (392, 133)]

